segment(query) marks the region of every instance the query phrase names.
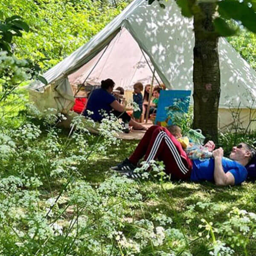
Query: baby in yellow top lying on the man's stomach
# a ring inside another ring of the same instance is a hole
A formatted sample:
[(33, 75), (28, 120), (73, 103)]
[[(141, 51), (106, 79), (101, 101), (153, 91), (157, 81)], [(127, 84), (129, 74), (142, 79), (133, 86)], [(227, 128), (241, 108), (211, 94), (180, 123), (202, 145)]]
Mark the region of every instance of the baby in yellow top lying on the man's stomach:
[(179, 126), (170, 125), (167, 129), (177, 138), (190, 159), (202, 160), (204, 158), (212, 157), (212, 150), (215, 148), (215, 144), (212, 141), (208, 141), (204, 146), (197, 143), (190, 143), (188, 137), (182, 137)]

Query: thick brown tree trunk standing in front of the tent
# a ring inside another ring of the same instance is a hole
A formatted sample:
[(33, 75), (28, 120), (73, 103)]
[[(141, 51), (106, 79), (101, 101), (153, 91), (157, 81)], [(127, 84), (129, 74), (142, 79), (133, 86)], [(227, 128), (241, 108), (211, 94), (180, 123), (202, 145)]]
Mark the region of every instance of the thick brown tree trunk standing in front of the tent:
[(212, 19), (216, 3), (201, 3), (202, 12), (194, 15), (194, 120), (193, 128), (218, 142), (218, 105), (221, 93), (218, 35)]

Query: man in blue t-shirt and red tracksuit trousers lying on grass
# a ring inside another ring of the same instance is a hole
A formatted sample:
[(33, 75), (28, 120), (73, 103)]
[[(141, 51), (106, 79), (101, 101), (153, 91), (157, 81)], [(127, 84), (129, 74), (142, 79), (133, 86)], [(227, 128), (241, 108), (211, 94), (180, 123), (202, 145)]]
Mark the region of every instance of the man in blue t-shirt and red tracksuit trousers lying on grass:
[[(212, 141), (206, 143), (208, 148), (215, 148)], [(157, 125), (146, 131), (134, 153), (122, 163), (112, 167), (113, 170), (123, 172), (128, 177), (140, 177), (134, 169), (140, 159), (145, 161), (158, 159), (165, 164), (165, 172), (172, 179), (215, 182), (218, 186), (238, 185), (247, 177), (246, 166), (254, 155), (253, 148), (240, 143), (233, 147), (230, 158), (223, 157), (223, 149), (212, 151), (213, 158), (205, 160), (191, 160), (183, 150), (180, 142), (167, 128)]]

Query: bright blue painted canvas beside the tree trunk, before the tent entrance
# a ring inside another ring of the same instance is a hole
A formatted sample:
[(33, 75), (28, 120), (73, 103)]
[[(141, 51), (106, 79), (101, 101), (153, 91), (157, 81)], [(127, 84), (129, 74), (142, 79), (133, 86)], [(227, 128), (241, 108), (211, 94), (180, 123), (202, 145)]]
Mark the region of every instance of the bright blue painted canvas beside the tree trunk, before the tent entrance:
[(161, 90), (157, 106), (155, 124), (172, 125), (177, 116), (182, 116), (189, 110), (191, 90)]

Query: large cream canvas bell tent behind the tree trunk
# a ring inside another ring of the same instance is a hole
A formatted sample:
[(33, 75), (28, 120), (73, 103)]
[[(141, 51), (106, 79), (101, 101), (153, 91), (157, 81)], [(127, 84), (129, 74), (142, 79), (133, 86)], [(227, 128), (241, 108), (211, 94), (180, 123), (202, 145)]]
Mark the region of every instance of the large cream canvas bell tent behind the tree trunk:
[[(87, 44), (44, 73), (48, 84), (30, 84), (32, 100), (40, 110), (56, 108), (68, 112), (74, 102), (71, 85), (100, 83), (111, 78), (117, 86), (132, 90), (142, 81), (150, 83), (155, 70), (155, 83), (168, 89), (192, 90), (193, 20), (181, 15), (174, 0), (159, 7), (157, 1), (134, 0)], [(240, 121), (248, 121), (248, 106), (256, 108), (256, 72), (227, 43), (219, 39), (221, 98), (219, 127), (233, 123), (229, 108), (241, 108)], [(209, 83), (211, 81), (208, 81)]]

